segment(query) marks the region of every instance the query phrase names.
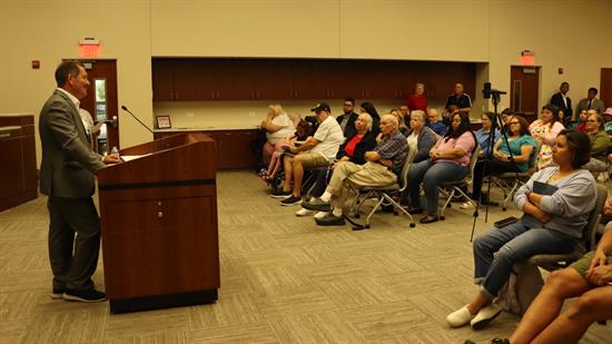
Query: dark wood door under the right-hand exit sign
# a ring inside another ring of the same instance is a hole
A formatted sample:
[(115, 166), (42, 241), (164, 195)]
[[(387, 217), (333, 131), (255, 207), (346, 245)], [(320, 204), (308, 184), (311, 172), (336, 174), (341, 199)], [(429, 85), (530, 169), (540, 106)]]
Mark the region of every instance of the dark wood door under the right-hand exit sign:
[(540, 67), (510, 67), (510, 104), (519, 114), (533, 116), (537, 114), (540, 94)]

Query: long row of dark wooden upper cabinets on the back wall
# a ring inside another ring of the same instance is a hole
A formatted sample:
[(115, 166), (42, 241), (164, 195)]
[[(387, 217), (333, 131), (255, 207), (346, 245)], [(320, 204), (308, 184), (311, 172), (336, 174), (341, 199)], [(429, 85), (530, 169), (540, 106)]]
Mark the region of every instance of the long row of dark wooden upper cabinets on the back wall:
[(155, 101), (405, 99), (415, 82), (444, 100), (455, 82), (475, 98), (468, 62), (324, 59), (152, 60)]

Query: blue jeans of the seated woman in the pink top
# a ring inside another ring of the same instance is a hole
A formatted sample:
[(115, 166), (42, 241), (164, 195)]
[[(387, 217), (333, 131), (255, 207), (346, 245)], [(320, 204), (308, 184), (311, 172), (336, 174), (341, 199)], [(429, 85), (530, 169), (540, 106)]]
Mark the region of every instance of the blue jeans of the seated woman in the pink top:
[(437, 186), (442, 181), (461, 180), (467, 175), (467, 167), (454, 163), (423, 160), (408, 170), (411, 205), (419, 205), (419, 186), (425, 190), (425, 208), (428, 215), (437, 215)]

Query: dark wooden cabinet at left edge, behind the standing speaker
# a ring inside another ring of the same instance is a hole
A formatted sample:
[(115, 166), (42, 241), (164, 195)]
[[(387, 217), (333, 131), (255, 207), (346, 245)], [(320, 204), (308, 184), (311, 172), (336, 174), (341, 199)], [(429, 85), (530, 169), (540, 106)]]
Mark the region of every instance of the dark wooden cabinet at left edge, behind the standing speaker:
[(38, 197), (33, 116), (0, 116), (0, 212)]

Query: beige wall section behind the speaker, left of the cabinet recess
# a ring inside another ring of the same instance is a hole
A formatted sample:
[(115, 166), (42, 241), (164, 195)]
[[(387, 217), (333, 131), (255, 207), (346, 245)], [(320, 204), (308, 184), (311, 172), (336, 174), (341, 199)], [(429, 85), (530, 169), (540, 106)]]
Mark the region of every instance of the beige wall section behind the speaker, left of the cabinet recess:
[[(129, 24), (134, 23), (134, 24)], [(129, 24), (129, 26), (128, 26)], [(0, 1), (0, 114), (38, 114), (56, 87), (65, 58), (78, 58), (78, 42), (96, 37), (103, 59), (117, 59), (119, 104), (151, 122), (149, 1)], [(30, 68), (31, 60), (41, 68)], [(124, 147), (151, 135), (119, 114)], [(40, 141), (37, 140), (40, 161)]]

